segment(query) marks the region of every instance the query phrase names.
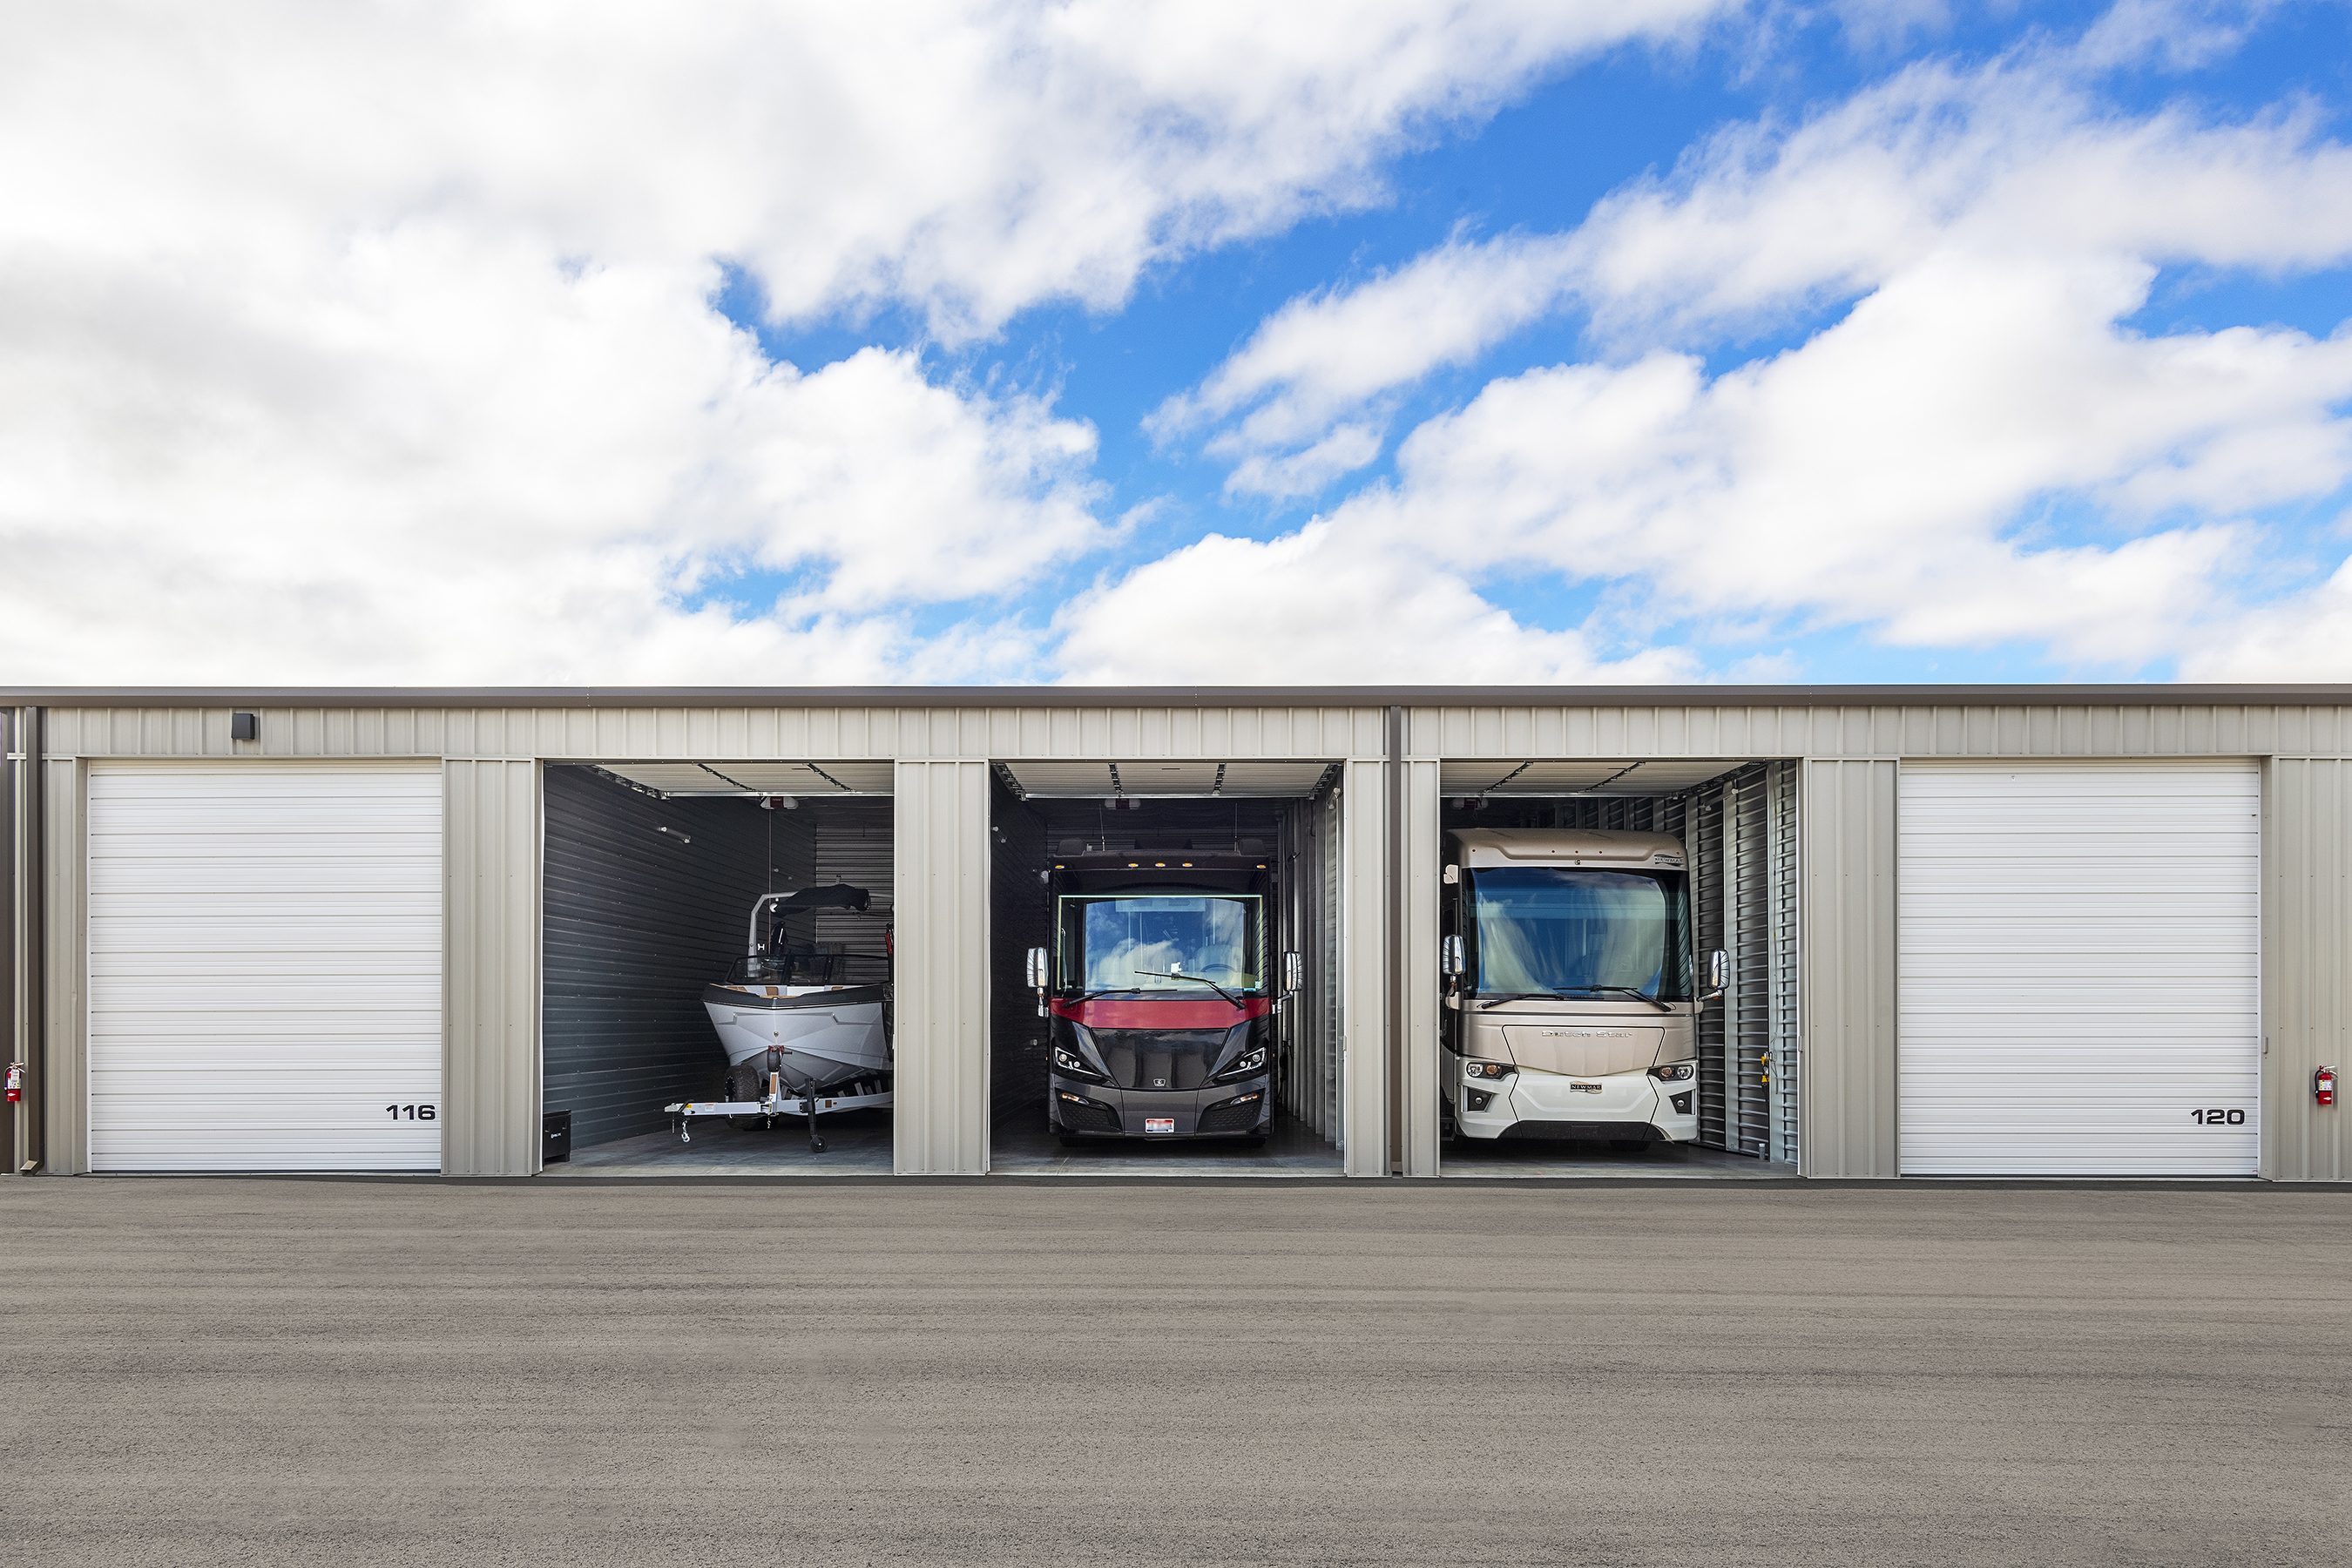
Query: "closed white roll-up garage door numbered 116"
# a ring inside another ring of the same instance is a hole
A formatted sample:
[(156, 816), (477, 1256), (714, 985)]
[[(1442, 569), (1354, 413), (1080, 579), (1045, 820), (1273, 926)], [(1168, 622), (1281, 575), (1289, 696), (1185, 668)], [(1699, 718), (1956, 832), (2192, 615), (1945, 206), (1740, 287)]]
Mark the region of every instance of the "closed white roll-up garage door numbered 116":
[(437, 1171), (433, 764), (92, 764), (89, 1166)]

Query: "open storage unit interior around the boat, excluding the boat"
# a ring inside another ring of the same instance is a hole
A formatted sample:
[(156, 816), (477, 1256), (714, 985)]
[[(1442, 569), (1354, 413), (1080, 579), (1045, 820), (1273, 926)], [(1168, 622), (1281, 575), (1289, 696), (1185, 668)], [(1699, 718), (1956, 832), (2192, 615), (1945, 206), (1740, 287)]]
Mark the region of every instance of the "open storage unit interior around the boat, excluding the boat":
[[(729, 1063), (706, 992), (755, 940), (800, 954), (797, 983), (889, 985), (889, 785), (887, 762), (546, 769), (541, 1095), (567, 1145), (550, 1173), (891, 1168), (887, 1105), (823, 1110), (870, 1093), (816, 1095), (823, 1150), (804, 1114), (675, 1110), (769, 1088)], [(833, 886), (863, 889), (866, 907), (764, 903)]]

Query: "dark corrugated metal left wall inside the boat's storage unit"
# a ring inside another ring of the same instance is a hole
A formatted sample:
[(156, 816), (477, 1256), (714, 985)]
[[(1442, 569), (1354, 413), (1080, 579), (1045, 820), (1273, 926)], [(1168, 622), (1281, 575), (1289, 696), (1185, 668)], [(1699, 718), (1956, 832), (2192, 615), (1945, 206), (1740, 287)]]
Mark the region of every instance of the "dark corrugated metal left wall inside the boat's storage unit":
[(572, 1112), (574, 1147), (656, 1133), (663, 1105), (720, 1086), (703, 983), (743, 952), (760, 893), (814, 879), (807, 813), (663, 802), (574, 766), (546, 790), (546, 1110)]

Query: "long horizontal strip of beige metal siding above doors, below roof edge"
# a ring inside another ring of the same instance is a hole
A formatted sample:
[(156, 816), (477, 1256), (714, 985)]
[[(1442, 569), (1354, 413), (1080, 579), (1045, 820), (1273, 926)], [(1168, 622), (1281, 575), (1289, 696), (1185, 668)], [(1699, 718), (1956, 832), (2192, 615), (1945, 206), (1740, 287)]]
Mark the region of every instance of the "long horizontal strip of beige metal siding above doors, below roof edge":
[[(423, 696), (423, 693), (421, 693)], [(54, 757), (1376, 757), (1383, 710), (1247, 708), (54, 708)], [(2340, 703), (1439, 705), (1414, 757), (2338, 757)]]

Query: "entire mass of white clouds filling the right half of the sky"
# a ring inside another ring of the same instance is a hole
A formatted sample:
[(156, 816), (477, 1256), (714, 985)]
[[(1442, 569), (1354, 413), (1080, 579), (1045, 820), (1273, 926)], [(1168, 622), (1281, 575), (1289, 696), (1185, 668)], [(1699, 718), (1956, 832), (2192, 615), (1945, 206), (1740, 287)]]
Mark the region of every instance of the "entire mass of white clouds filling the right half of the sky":
[[(1795, 129), (1736, 127), (1569, 235), (1456, 240), (1294, 301), (1164, 418), (1240, 411), (1211, 451), (1279, 475), (1477, 353), (1465, 322), (1566, 296), (1623, 360), (1498, 378), (1425, 421), (1397, 480), (1324, 512), (1298, 559), (1416, 557), (1470, 590), (1606, 583), (1611, 616), (1585, 632), (1611, 646), (1844, 625), (2091, 668), (2286, 670), (2326, 632), (2249, 623), (2234, 595), (2267, 548), (2251, 517), (2352, 480), (2352, 324), (2133, 320), (2164, 266), (2352, 261), (2352, 150), (2293, 115), (2117, 115), (2074, 71), (2063, 52), (1917, 66)], [(1679, 350), (1823, 313), (1712, 378)], [(1296, 494), (1329, 470), (1303, 468)], [(1312, 592), (1291, 559), (1261, 564)], [(1136, 583), (1105, 614), (1136, 614)], [(2303, 623), (2352, 632), (2347, 592)], [(1367, 658), (1390, 644), (1374, 621), (1352, 635)], [(1454, 675), (1442, 658), (1432, 677)]]

